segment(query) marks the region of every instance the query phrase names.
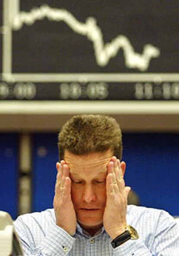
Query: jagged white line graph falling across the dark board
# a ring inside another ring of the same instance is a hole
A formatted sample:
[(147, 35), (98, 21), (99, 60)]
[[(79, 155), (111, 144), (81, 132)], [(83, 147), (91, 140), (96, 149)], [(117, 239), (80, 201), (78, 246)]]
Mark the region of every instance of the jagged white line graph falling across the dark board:
[(85, 23), (77, 20), (72, 13), (64, 9), (51, 8), (48, 5), (32, 8), (29, 12), (16, 11), (13, 16), (13, 30), (20, 30), (23, 24), (32, 26), (36, 20), (47, 18), (49, 21), (64, 22), (71, 30), (93, 43), (96, 63), (99, 66), (106, 66), (111, 58), (114, 58), (120, 49), (124, 52), (125, 65), (127, 68), (137, 68), (146, 71), (152, 58), (160, 56), (160, 49), (151, 44), (144, 45), (143, 53), (136, 53), (130, 41), (124, 35), (118, 35), (110, 43), (104, 43), (100, 27), (97, 26), (96, 19), (88, 17)]

